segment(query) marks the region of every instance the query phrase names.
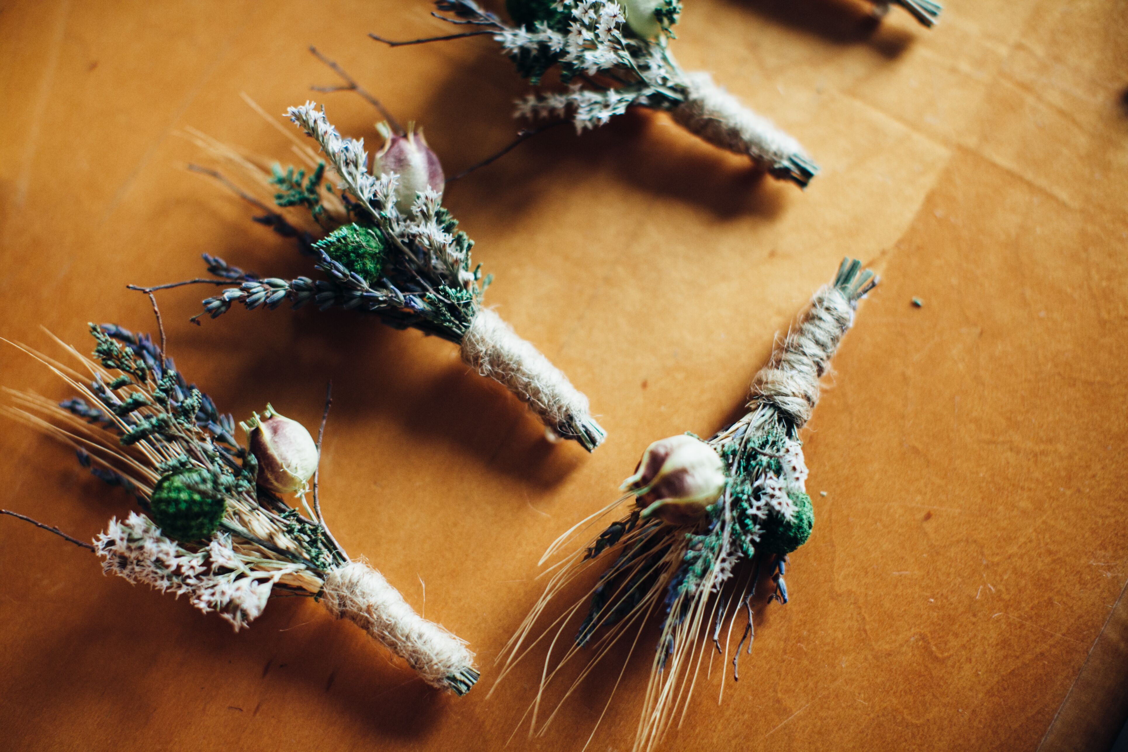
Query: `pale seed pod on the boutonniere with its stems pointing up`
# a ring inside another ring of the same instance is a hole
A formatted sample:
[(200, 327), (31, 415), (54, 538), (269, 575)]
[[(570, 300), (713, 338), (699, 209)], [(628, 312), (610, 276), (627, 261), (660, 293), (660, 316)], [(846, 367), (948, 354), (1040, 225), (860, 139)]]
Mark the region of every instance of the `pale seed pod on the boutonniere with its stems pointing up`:
[(682, 434), (647, 446), (620, 488), (635, 493), (635, 502), (645, 507), (643, 517), (656, 514), (666, 522), (687, 524), (704, 516), (724, 484), (724, 462), (716, 451)]

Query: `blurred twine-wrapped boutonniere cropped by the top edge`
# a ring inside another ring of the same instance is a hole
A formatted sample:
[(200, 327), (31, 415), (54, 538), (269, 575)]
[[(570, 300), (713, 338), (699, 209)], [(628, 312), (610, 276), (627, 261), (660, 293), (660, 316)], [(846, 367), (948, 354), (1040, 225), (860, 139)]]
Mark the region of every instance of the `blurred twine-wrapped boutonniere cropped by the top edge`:
[(554, 69), (567, 85), (521, 99), (519, 117), (570, 117), (582, 132), (628, 107), (663, 109), (705, 141), (747, 154), (775, 177), (805, 186), (818, 172), (795, 139), (744, 107), (708, 73), (686, 72), (675, 61), (668, 42), (681, 11), (678, 0), (509, 0), (513, 24), (475, 0), (437, 0), (435, 6), (435, 17), (476, 30), (408, 42), (371, 36), (398, 46), (490, 35), (531, 85)]

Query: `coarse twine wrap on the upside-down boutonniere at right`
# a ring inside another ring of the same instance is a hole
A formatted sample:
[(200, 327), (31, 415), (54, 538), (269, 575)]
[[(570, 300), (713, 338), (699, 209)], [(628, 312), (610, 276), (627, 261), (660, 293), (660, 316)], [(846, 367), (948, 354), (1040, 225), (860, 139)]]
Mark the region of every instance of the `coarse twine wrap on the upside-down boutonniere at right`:
[(854, 306), (838, 287), (814, 293), (802, 324), (752, 380), (752, 402), (772, 405), (796, 431), (803, 427), (819, 401), (819, 378), (853, 324)]

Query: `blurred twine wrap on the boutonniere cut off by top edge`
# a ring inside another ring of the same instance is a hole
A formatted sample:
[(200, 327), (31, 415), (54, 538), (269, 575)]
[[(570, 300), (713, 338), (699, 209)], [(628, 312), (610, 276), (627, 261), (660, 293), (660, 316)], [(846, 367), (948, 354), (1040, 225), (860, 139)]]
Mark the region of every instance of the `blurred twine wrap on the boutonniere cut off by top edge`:
[(685, 81), (688, 96), (671, 114), (688, 131), (715, 147), (770, 165), (784, 163), (795, 156), (807, 157), (799, 141), (742, 105), (714, 83), (708, 73), (686, 73)]

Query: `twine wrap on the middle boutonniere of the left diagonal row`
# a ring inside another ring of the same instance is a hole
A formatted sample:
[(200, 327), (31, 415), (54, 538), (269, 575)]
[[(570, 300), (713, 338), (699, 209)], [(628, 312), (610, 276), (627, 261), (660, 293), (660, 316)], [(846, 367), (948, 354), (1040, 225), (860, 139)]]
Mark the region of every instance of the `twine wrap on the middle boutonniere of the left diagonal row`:
[(494, 311), (487, 308), (478, 310), (462, 337), (461, 347), (462, 361), (467, 365), (503, 383), (528, 402), (529, 409), (546, 426), (561, 435), (574, 436), (575, 426), (590, 424), (598, 427), (591, 417), (587, 396)]

